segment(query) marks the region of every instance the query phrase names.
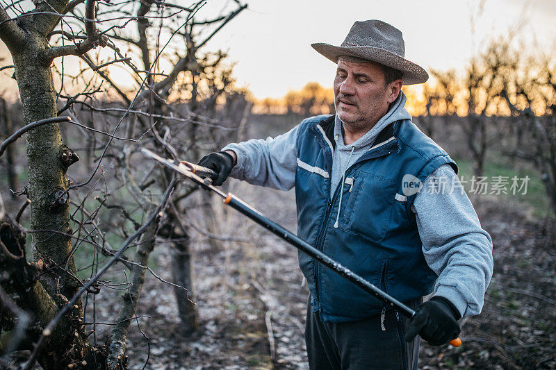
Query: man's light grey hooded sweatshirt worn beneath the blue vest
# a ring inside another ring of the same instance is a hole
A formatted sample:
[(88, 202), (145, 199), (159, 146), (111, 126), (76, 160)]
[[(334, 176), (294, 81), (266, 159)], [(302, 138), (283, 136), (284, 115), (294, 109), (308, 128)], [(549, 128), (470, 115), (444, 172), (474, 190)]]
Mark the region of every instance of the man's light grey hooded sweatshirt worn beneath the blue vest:
[[(342, 122), (336, 115), (331, 194), (343, 180), (345, 170), (370, 149), (384, 127), (393, 121), (411, 119), (405, 102), (406, 97), (400, 92), (386, 115), (349, 145), (343, 142)], [(225, 146), (222, 150), (234, 151), (238, 158), (231, 176), (254, 185), (290, 190), (297, 170), (298, 128), (266, 140)], [(479, 314), (493, 271), (492, 240), (481, 228), (475, 209), (450, 165), (441, 165), (425, 179), (411, 210), (416, 214), (425, 260), (439, 276), (434, 295), (450, 300), (461, 317)]]

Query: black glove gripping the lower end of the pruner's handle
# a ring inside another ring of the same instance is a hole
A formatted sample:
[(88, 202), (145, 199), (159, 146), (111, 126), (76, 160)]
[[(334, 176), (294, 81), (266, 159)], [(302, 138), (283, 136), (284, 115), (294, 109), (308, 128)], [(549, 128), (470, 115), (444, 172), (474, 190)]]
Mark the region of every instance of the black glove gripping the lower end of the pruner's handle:
[(411, 342), (419, 333), (431, 346), (441, 346), (459, 335), (457, 320), (461, 315), (448, 299), (434, 296), (415, 311), (405, 332), (407, 342)]

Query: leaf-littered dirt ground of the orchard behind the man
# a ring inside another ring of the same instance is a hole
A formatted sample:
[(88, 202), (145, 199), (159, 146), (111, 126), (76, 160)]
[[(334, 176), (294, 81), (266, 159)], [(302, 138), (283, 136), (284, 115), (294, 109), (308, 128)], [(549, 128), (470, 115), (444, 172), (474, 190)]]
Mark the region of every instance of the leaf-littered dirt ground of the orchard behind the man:
[[(295, 230), (293, 192), (235, 180), (232, 191)], [(556, 369), (555, 221), (533, 219), (530, 209), (496, 197), (473, 202), (494, 244), (495, 272), (484, 310), (461, 321), (460, 348), (423, 344), (419, 368)], [(145, 336), (136, 325), (131, 328), (130, 369), (142, 369), (147, 353), (145, 369), (308, 368), (303, 339), (308, 291), (301, 285), (296, 251), (234, 210), (220, 217), (226, 220), (222, 235), (245, 241), (210, 243), (199, 235), (199, 331), (192, 337), (178, 334), (172, 288), (148, 276), (137, 314), (150, 319), (139, 319)], [(155, 271), (170, 278), (170, 251), (159, 249), (153, 258)], [(111, 314), (97, 310), (98, 321), (103, 312)]]

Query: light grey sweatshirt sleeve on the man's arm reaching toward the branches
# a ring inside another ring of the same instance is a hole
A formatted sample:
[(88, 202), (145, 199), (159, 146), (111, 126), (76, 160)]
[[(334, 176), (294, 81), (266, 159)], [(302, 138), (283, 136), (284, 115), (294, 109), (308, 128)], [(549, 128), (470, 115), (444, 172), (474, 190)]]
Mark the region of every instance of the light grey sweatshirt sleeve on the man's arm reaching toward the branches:
[(222, 151), (234, 151), (238, 158), (230, 176), (253, 185), (290, 190), (295, 185), (299, 127), (297, 125), (274, 138), (252, 139), (224, 146)]

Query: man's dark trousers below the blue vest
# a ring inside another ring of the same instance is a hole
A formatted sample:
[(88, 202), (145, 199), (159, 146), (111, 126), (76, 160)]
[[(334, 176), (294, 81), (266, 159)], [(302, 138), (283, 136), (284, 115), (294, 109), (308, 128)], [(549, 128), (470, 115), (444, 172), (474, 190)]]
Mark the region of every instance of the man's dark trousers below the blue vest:
[[(419, 300), (420, 301), (420, 300)], [(419, 302), (410, 304), (415, 307)], [(407, 318), (395, 310), (348, 323), (323, 323), (307, 307), (305, 341), (311, 370), (416, 370), (419, 337), (405, 342)], [(384, 330), (383, 330), (384, 329)]]

